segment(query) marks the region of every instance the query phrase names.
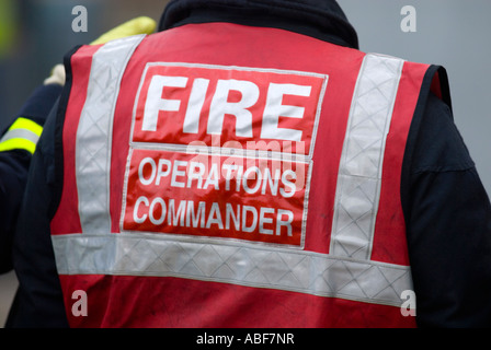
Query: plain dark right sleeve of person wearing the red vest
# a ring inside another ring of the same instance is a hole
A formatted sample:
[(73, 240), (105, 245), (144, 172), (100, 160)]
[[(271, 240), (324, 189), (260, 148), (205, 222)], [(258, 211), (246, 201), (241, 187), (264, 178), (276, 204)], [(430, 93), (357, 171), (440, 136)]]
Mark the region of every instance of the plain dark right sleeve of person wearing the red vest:
[(429, 97), (412, 152), (408, 242), (423, 327), (491, 326), (491, 206), (450, 108)]

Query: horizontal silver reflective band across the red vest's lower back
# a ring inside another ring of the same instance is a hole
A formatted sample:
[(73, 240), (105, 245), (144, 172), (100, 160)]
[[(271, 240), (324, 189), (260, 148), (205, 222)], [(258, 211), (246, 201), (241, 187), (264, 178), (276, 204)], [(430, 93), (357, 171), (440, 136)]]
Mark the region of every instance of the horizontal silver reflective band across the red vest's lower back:
[(58, 272), (180, 277), (400, 306), (409, 267), (155, 234), (56, 235)]

